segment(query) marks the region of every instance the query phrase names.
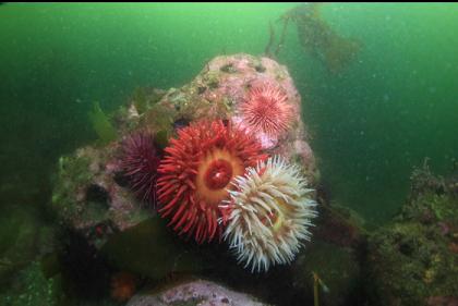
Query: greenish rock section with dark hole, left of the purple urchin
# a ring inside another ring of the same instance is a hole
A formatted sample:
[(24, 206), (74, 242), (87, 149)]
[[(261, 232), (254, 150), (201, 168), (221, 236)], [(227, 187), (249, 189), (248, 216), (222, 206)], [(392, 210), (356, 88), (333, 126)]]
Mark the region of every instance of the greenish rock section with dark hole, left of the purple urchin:
[(60, 223), (100, 248), (117, 232), (154, 216), (123, 184), (119, 145), (84, 147), (62, 157), (52, 194)]

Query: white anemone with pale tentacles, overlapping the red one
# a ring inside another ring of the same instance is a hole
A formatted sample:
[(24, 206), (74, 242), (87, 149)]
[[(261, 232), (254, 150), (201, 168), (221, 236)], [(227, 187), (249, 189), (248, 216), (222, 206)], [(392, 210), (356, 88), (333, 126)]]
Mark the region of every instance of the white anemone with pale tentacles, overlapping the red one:
[(311, 219), (316, 216), (312, 189), (300, 169), (276, 156), (232, 181), (230, 209), (224, 238), (245, 268), (267, 271), (289, 264), (309, 241)]

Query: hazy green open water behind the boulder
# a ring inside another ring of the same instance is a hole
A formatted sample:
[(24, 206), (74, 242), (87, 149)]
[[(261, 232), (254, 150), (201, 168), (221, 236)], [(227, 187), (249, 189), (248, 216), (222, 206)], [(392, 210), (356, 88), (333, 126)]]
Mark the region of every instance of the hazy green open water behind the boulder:
[[(215, 56), (261, 54), (268, 22), (296, 5), (0, 5), (1, 207), (40, 218), (59, 156), (97, 138), (95, 100), (112, 111), (136, 86), (184, 85)], [(302, 95), (332, 201), (383, 223), (407, 197), (412, 167), (429, 157), (445, 174), (458, 157), (458, 4), (332, 3), (322, 13), (362, 42), (357, 60), (330, 75), (291, 25), (278, 61)]]

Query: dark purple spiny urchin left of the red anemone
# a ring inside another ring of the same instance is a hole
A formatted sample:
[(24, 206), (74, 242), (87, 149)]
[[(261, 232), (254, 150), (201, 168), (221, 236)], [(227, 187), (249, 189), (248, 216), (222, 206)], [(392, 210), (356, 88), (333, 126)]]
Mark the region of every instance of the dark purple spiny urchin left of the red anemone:
[(144, 201), (156, 204), (157, 168), (160, 157), (153, 135), (140, 131), (123, 142), (121, 167), (135, 195)]

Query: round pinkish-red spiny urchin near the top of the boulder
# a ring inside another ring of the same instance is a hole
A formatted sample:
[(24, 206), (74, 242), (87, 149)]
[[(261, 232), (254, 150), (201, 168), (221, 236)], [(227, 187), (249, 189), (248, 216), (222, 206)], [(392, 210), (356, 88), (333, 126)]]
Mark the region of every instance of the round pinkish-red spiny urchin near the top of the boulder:
[(288, 95), (272, 84), (251, 88), (239, 111), (251, 131), (275, 139), (290, 127), (293, 119)]

